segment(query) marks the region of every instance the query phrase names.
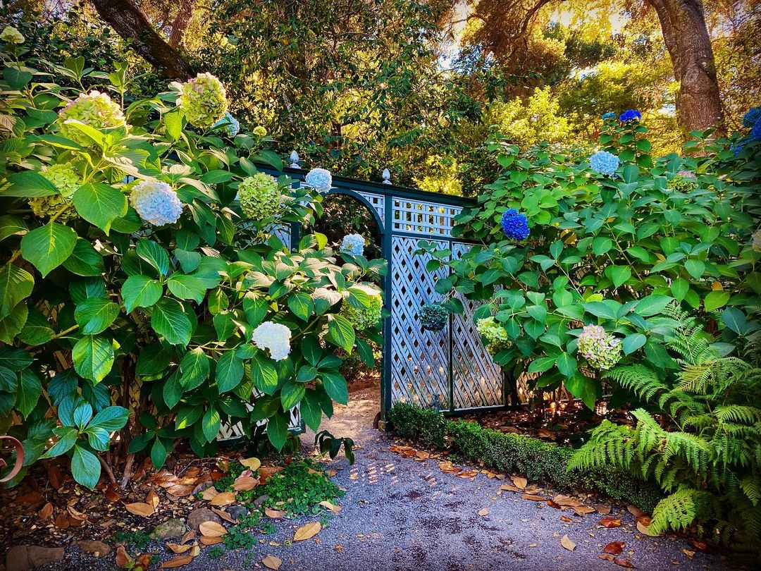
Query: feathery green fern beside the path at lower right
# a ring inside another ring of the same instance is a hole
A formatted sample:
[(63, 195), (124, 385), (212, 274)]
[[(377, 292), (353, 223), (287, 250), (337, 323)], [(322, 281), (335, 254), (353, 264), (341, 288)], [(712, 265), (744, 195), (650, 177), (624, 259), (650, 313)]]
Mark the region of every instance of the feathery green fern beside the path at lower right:
[(761, 369), (722, 356), (715, 339), (678, 307), (661, 318), (676, 373), (644, 364), (606, 377), (651, 405), (634, 426), (603, 421), (569, 470), (615, 467), (654, 480), (667, 493), (651, 530), (694, 528), (759, 550), (761, 539)]

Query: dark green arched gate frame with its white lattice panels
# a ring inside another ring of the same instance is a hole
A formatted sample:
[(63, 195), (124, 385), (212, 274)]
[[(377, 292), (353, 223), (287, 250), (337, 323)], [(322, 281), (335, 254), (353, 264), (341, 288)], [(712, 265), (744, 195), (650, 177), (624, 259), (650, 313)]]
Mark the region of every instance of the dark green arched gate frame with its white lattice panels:
[[(287, 174), (300, 184), (307, 171), (264, 169)], [(395, 187), (387, 180), (371, 183), (334, 177), (326, 193), (354, 197), (373, 214), (382, 235), (382, 252), (388, 263), (384, 279), (384, 304), (390, 317), (384, 320), (381, 363), (381, 418), (397, 402), (436, 407), (443, 412), (463, 413), (505, 407), (501, 369), (486, 352), (476, 326), (476, 305), (463, 297), (464, 314), (451, 315), (439, 332), (424, 331), (419, 310), (429, 301), (440, 301), (437, 279), (446, 276), (425, 270), (428, 256), (415, 255), (420, 240), (435, 241), (460, 257), (473, 243), (452, 237), (454, 217), (474, 201), (459, 196)], [(300, 228), (291, 228), (287, 243), (298, 244)]]

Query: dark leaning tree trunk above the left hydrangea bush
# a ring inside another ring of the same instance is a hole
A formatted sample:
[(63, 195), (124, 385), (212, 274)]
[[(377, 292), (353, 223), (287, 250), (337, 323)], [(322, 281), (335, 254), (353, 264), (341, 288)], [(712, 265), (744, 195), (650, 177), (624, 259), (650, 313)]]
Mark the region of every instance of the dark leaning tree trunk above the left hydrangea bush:
[(91, 0), (100, 18), (119, 36), (132, 39), (132, 48), (167, 78), (189, 79), (193, 68), (170, 46), (131, 0)]

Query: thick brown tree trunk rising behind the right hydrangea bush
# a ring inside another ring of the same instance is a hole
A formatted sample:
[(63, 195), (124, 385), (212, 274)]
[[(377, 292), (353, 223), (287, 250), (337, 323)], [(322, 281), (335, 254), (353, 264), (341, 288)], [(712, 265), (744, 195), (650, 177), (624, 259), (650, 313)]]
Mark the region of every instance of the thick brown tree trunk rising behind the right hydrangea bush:
[(702, 0), (648, 0), (658, 13), (673, 75), (679, 81), (677, 112), (686, 131), (715, 127), (724, 133), (711, 38)]

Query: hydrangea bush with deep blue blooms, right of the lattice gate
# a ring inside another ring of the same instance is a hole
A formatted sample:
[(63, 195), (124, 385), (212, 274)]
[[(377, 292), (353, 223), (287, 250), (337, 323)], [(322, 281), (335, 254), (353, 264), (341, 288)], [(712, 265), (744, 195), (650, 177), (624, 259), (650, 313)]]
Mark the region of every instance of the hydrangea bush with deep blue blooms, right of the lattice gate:
[[(690, 155), (653, 158), (639, 119), (607, 116), (597, 154), (546, 144), (521, 152), (496, 136), (490, 148), (505, 173), (454, 228), (478, 245), (454, 260), (419, 243), (433, 257), (429, 271), (449, 267), (437, 292), (482, 302), (479, 333), (512, 381), (533, 373), (536, 388), (564, 385), (590, 408), (617, 363), (645, 360), (661, 375), (679, 368), (665, 343), (669, 304), (710, 324), (725, 352), (761, 338), (761, 144), (752, 128), (731, 139), (693, 133)], [(505, 228), (517, 211), (525, 242)], [(614, 403), (631, 397), (613, 390)]]

